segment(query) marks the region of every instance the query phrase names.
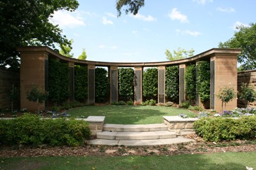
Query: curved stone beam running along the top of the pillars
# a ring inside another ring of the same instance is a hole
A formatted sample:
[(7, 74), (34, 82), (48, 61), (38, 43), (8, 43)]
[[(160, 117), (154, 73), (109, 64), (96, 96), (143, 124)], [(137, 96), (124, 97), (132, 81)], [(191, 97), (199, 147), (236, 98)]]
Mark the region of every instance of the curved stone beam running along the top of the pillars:
[(227, 48), (212, 48), (205, 52), (199, 53), (194, 55), (193, 57), (189, 57), (186, 59), (180, 60), (168, 60), (163, 62), (100, 62), (100, 61), (92, 61), (92, 60), (79, 60), (73, 59), (69, 57), (65, 57), (60, 53), (52, 50), (48, 46), (20, 46), (17, 48), (17, 51), (20, 53), (47, 53), (50, 57), (59, 58), (66, 62), (74, 62), (77, 65), (95, 65), (95, 66), (120, 66), (120, 67), (156, 67), (156, 66), (168, 66), (168, 65), (179, 65), (185, 64), (189, 62), (196, 62), (198, 60), (207, 60), (211, 59), (213, 55), (223, 55), (223, 56), (230, 56), (230, 55), (238, 55), (241, 53), (239, 49), (227, 49)]

